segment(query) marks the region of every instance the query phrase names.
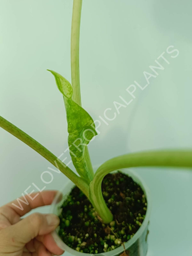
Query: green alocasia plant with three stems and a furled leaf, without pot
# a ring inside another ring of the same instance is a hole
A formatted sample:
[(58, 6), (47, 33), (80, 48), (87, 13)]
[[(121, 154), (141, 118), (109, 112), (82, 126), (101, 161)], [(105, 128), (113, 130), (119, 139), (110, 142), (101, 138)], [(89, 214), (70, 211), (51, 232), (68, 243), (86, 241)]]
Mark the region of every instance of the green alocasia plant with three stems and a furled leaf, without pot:
[(58, 89), (63, 95), (68, 123), (68, 145), (71, 159), (78, 175), (62, 163), (47, 148), (18, 127), (0, 117), (0, 125), (21, 141), (29, 145), (40, 155), (56, 166), (63, 174), (76, 184), (89, 198), (95, 210), (104, 223), (109, 223), (113, 216), (105, 204), (102, 196), (101, 183), (109, 172), (138, 166), (175, 166), (192, 167), (192, 151), (151, 151), (125, 154), (112, 158), (93, 172), (87, 149), (93, 136), (97, 135), (91, 116), (81, 107), (80, 77), (79, 77), (79, 35), (82, 0), (73, 1), (73, 15), (71, 27), (71, 81), (55, 71), (49, 70), (55, 77)]

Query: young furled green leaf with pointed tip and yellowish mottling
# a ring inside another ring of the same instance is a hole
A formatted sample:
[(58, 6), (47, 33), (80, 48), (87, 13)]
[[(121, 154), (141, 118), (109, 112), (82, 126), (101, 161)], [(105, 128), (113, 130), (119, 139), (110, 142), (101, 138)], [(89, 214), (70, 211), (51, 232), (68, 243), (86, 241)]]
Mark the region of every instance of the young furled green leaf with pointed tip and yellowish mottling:
[(73, 89), (69, 81), (55, 71), (50, 71), (56, 80), (59, 91), (63, 94), (68, 123), (69, 152), (79, 175), (91, 181), (84, 158), (86, 145), (97, 135), (91, 116), (72, 100)]

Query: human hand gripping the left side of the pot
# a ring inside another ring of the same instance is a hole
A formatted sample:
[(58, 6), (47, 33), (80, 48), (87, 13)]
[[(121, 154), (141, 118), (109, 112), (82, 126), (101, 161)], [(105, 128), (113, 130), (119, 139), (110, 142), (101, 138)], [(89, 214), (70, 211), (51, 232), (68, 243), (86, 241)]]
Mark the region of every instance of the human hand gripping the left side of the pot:
[[(34, 200), (27, 198), (29, 204), (22, 204), (23, 210), (12, 205), (17, 205), (17, 200), (0, 207), (0, 256), (52, 256), (64, 252), (51, 236), (59, 225), (56, 215), (34, 213), (20, 218), (31, 209), (50, 205), (56, 193), (47, 190), (39, 193)], [(31, 194), (31, 197), (36, 194)]]

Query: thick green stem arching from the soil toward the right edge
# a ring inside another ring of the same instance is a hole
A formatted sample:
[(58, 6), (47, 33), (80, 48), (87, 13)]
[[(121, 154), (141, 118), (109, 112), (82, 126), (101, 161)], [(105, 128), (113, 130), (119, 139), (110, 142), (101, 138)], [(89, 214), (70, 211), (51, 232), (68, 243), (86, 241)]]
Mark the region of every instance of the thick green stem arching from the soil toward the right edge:
[(97, 169), (89, 186), (89, 198), (105, 223), (111, 221), (111, 212), (105, 204), (101, 191), (101, 183), (104, 176), (114, 170), (139, 166), (192, 167), (192, 151), (175, 150), (133, 153), (112, 158), (102, 164)]

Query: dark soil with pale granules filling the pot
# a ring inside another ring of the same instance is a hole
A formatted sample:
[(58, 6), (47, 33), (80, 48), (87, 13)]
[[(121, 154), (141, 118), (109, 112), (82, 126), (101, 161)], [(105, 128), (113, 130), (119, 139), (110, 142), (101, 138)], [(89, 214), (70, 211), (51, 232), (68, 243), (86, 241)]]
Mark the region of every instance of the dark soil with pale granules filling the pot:
[(69, 247), (85, 253), (110, 251), (132, 238), (141, 226), (147, 202), (131, 177), (121, 172), (106, 175), (102, 193), (114, 217), (108, 225), (100, 222), (78, 187), (63, 202), (59, 235)]

